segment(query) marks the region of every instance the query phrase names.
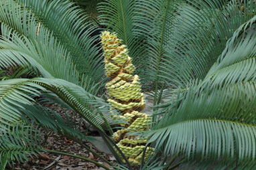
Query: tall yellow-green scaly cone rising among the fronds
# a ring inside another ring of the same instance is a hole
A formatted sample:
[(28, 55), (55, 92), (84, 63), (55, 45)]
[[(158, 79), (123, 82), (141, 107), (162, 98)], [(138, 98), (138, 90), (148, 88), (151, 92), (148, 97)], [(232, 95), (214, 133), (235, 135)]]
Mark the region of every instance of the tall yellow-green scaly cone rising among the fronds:
[[(135, 139), (127, 133), (145, 131), (150, 125), (150, 116), (139, 111), (145, 108), (145, 100), (141, 93), (139, 76), (133, 75), (135, 66), (131, 63), (128, 50), (121, 45), (121, 39), (115, 33), (104, 31), (101, 35), (103, 56), (105, 57), (105, 70), (109, 78), (106, 84), (109, 94), (109, 104), (123, 115), (113, 115), (114, 119), (125, 120), (129, 124), (120, 124), (125, 127), (114, 133), (113, 139), (121, 149), (129, 163), (133, 166), (141, 164), (146, 139)], [(153, 154), (153, 149), (147, 147), (145, 160)]]

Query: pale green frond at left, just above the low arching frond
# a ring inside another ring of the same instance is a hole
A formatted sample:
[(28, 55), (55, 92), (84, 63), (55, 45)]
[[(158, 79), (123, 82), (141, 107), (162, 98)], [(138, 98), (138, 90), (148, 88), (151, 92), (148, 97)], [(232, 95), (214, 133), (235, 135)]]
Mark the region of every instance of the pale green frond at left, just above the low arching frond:
[[(72, 64), (70, 54), (66, 52), (63, 46), (58, 43), (58, 41), (52, 36), (52, 34), (50, 34), (46, 28), (41, 27), (40, 31), (42, 32), (39, 35), (36, 35), (36, 32), (33, 33), (33, 31), (36, 31), (37, 29), (35, 26), (36, 19), (33, 15), (31, 15), (29, 11), (23, 10), (23, 8), (21, 8), (19, 4), (15, 3), (14, 1), (6, 1), (5, 4), (1, 5), (1, 7), (3, 9), (1, 15), (7, 15), (5, 11), (8, 11), (8, 9), (11, 10), (11, 7), (17, 8), (16, 12), (13, 13), (13, 15), (11, 15), (11, 17), (8, 19), (11, 20), (15, 19), (15, 17), (21, 18), (23, 15), (28, 15), (29, 17), (26, 18), (27, 22), (31, 22), (31, 25), (29, 25), (30, 27), (28, 29), (29, 31), (27, 31), (30, 34), (25, 32), (25, 29), (22, 29), (22, 27), (19, 27), (21, 28), (20, 32), (25, 33), (29, 39), (19, 35), (17, 31), (14, 31), (13, 29), (15, 29), (15, 26), (11, 28), (8, 25), (2, 25), (2, 33), (5, 37), (1, 39), (0, 45), (1, 66), (7, 67), (16, 64), (28, 66), (31, 65), (38, 69), (42, 76), (46, 78), (62, 78), (63, 80), (67, 80), (68, 82), (82, 86), (82, 88), (86, 89), (92, 94), (97, 94), (99, 87), (95, 88), (94, 83), (90, 78), (85, 78), (85, 76), (81, 76), (78, 73), (75, 66)], [(13, 20), (13, 23), (17, 24), (17, 27), (25, 24), (26, 21), (22, 23), (19, 22)], [(36, 37), (33, 39), (31, 38), (32, 35), (36, 35)], [(34, 86), (33, 88), (37, 87)], [(18, 93), (18, 91), (15, 92)], [(13, 100), (15, 99), (13, 98)], [(12, 112), (10, 115), (15, 115), (15, 113)]]

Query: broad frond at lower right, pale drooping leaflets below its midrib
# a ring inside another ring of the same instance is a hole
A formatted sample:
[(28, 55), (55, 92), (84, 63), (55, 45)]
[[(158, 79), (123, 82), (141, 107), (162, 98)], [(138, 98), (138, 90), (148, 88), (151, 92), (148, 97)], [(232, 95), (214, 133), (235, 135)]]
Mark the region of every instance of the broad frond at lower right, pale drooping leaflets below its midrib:
[(255, 82), (199, 92), (190, 85), (178, 108), (149, 132), (155, 148), (188, 158), (255, 159)]

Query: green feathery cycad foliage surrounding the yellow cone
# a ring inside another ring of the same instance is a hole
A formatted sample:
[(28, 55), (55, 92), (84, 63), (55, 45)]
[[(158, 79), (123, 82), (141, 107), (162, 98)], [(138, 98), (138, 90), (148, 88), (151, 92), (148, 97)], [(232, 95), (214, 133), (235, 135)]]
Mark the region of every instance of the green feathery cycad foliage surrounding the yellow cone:
[[(141, 169), (255, 169), (255, 1), (105, 0), (98, 9), (152, 96), (150, 131), (127, 134), (149, 139)], [(99, 131), (115, 169), (133, 169), (105, 131), (121, 113), (104, 97), (110, 80), (88, 15), (68, 0), (1, 0), (0, 22), (1, 69), (37, 75), (0, 82), (0, 167), (48, 151), (40, 128), (90, 141), (45, 108), (49, 100)], [(148, 147), (154, 153), (144, 161)]]

